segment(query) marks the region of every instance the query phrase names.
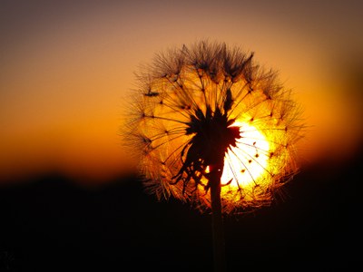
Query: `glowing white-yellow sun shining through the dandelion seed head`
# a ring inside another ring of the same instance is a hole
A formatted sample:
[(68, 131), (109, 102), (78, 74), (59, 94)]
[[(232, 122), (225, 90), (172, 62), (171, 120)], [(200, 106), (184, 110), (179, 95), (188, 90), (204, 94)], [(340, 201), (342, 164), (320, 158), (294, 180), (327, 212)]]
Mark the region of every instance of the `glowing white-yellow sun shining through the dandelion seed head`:
[(222, 194), (256, 186), (268, 169), (270, 144), (266, 137), (247, 122), (235, 121), (233, 126), (240, 127), (241, 138), (224, 157)]

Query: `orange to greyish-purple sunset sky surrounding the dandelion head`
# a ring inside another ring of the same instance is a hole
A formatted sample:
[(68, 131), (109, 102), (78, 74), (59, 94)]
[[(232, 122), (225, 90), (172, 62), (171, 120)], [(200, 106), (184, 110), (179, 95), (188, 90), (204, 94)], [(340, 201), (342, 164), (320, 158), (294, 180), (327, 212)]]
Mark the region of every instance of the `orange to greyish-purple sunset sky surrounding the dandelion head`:
[(362, 142), (361, 1), (1, 1), (0, 182), (49, 171), (112, 180), (133, 72), (208, 38), (255, 52), (296, 92), (303, 164), (348, 160)]

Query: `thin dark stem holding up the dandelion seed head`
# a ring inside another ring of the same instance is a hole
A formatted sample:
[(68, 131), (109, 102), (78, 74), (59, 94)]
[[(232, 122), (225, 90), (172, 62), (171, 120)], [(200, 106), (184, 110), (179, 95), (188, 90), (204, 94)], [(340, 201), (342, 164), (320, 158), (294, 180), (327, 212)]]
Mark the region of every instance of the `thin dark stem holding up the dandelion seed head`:
[[(223, 166), (223, 163), (222, 165)], [(211, 171), (211, 230), (213, 238), (214, 271), (225, 271), (223, 221), (221, 215), (221, 172), (223, 167)]]

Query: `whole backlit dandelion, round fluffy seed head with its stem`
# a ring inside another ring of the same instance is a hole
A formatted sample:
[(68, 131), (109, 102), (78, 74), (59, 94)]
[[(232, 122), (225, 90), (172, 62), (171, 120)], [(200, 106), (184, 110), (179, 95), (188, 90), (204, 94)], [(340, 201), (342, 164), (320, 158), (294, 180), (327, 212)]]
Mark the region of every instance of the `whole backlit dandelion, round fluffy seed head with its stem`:
[(211, 212), (218, 270), (221, 215), (269, 206), (297, 173), (299, 107), (276, 72), (223, 43), (158, 53), (136, 76), (127, 140), (145, 189)]

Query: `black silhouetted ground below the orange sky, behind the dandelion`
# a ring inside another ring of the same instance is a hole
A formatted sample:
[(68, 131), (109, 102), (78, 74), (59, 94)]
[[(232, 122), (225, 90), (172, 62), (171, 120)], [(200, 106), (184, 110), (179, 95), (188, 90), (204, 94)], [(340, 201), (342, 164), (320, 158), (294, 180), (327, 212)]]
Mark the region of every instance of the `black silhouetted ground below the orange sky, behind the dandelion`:
[[(228, 271), (361, 267), (361, 154), (302, 170), (284, 201), (225, 218)], [(0, 271), (212, 271), (210, 216), (157, 202), (133, 177), (99, 189), (27, 181), (0, 189)]]

